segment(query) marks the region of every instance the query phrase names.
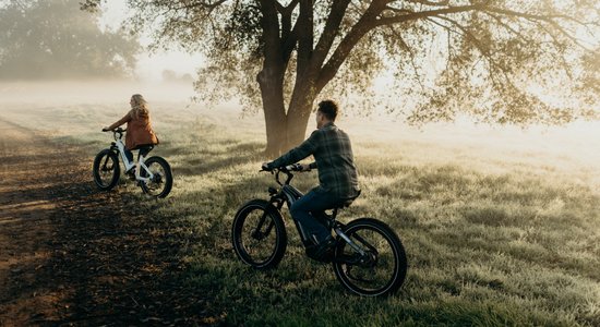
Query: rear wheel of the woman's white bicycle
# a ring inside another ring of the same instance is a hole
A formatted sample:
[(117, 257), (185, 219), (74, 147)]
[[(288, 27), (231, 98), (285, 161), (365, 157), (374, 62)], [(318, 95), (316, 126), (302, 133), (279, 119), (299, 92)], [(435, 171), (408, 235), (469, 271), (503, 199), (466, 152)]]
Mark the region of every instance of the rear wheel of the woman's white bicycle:
[[(155, 197), (166, 197), (173, 184), (171, 166), (160, 157), (151, 157), (144, 161), (144, 165), (152, 172), (153, 178), (147, 182), (140, 181), (142, 191)], [(145, 178), (148, 173), (145, 169), (141, 169), (140, 175)]]

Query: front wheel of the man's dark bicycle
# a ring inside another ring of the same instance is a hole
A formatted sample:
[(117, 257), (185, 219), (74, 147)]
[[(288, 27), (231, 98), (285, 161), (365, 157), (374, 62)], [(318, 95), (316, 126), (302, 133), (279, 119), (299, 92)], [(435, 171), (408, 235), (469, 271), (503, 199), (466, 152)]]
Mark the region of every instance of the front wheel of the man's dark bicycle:
[(257, 269), (277, 266), (287, 246), (281, 215), (264, 199), (244, 204), (233, 219), (231, 241), (236, 254), (245, 264)]

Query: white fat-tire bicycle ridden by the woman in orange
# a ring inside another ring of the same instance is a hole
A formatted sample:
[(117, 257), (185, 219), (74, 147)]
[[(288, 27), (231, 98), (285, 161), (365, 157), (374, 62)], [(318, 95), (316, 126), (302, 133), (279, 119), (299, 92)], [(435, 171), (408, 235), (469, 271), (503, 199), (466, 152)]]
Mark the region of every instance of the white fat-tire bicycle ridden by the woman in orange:
[(125, 171), (131, 171), (135, 166), (132, 179), (137, 182), (144, 193), (155, 197), (166, 197), (172, 187), (172, 172), (169, 162), (157, 156), (147, 159), (140, 156), (137, 162), (130, 161), (125, 155), (125, 145), (121, 140), (125, 131), (121, 128), (113, 130), (115, 142), (110, 144), (109, 148), (105, 148), (96, 155), (94, 182), (103, 191), (109, 191), (119, 183), (121, 177), (120, 155)]

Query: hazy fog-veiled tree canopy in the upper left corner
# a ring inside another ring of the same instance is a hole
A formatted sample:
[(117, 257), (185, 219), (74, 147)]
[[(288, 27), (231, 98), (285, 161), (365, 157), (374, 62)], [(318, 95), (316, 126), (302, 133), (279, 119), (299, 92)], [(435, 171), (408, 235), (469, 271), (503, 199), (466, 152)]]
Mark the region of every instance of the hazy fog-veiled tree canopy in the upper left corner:
[(0, 2), (0, 78), (121, 76), (140, 46), (124, 31), (103, 32), (79, 0)]

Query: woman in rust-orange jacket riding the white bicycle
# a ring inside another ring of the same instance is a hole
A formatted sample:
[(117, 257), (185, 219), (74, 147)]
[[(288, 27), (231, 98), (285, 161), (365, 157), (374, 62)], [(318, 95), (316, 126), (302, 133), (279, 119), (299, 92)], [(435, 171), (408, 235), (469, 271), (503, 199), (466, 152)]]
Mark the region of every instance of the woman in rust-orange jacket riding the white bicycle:
[[(121, 118), (118, 122), (111, 124), (108, 128), (104, 128), (103, 131), (112, 131), (116, 128), (127, 123), (127, 135), (125, 135), (125, 155), (130, 162), (133, 162), (133, 154), (131, 150), (140, 149), (137, 154), (137, 160), (140, 156), (146, 156), (156, 144), (158, 144), (158, 138), (152, 130), (148, 102), (144, 99), (142, 95), (134, 94), (131, 96), (129, 101), (131, 105), (131, 110)], [(132, 166), (133, 168), (133, 166)], [(128, 171), (133, 174), (133, 170), (129, 169)]]

